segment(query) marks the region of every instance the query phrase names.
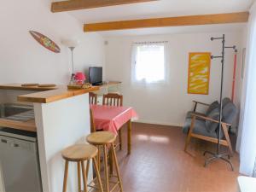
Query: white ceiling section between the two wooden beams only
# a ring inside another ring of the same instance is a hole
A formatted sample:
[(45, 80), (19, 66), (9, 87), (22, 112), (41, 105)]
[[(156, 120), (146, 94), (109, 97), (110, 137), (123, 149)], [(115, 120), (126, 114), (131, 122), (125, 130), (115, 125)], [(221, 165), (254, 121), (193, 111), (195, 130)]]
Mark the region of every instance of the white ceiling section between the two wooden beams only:
[[(56, 0), (55, 0), (56, 1)], [(60, 1), (60, 0), (57, 0)], [(246, 11), (253, 0), (160, 0), (68, 12), (84, 23)]]

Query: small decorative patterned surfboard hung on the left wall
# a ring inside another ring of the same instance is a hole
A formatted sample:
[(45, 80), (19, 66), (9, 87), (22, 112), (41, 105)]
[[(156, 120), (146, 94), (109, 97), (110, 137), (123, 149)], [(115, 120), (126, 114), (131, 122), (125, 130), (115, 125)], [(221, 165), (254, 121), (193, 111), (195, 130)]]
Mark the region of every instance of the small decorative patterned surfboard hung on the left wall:
[(61, 49), (60, 47), (55, 44), (55, 42), (53, 42), (51, 39), (47, 38), (46, 36), (44, 36), (43, 34), (41, 34), (40, 32), (34, 32), (34, 31), (29, 31), (30, 34), (32, 35), (32, 37), (34, 39), (36, 39), (36, 41), (43, 45), (46, 49), (49, 49), (55, 53), (60, 53)]

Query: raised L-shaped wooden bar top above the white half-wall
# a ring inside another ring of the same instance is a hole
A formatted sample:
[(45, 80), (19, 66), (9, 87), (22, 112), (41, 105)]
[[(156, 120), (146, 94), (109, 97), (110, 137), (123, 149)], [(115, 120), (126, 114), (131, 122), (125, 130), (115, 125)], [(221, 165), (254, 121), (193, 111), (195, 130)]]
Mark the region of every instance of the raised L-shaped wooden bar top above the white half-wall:
[(35, 93), (18, 96), (19, 102), (55, 102), (72, 96), (79, 96), (84, 93), (99, 90), (98, 86), (89, 89), (67, 89), (67, 85), (58, 85), (56, 87), (24, 87), (21, 84), (0, 84), (2, 90), (34, 90)]

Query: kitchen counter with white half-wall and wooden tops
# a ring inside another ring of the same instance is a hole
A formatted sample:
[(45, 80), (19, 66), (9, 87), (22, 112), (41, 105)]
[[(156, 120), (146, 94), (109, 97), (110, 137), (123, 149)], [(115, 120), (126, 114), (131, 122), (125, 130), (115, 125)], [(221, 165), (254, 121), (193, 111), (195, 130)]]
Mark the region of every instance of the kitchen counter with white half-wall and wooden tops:
[[(74, 143), (84, 143), (90, 134), (89, 92), (99, 90), (67, 89), (65, 85), (55, 87), (24, 87), (21, 84), (0, 85), (0, 104), (15, 103), (31, 105), (33, 119), (0, 119), (0, 126), (37, 132), (38, 156), (43, 191), (62, 190), (63, 159), (61, 150)], [(76, 168), (70, 167), (69, 177), (77, 177)], [(0, 170), (1, 172), (1, 170)], [(92, 179), (90, 166), (89, 179)], [(0, 182), (1, 185), (1, 182)], [(0, 187), (1, 190), (1, 187)], [(68, 185), (68, 191), (78, 191), (76, 179)]]

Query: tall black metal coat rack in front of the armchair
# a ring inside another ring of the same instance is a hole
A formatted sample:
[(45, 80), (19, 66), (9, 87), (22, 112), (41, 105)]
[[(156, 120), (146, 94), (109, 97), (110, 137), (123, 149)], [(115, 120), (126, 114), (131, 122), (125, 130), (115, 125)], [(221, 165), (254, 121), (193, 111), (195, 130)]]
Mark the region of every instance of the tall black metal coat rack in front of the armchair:
[[(212, 59), (220, 58), (221, 59), (221, 84), (220, 84), (220, 96), (219, 96), (219, 103), (220, 103), (220, 108), (219, 108), (219, 115), (218, 115), (218, 146), (217, 146), (217, 151), (216, 153), (212, 153), (211, 151), (205, 151), (204, 155), (206, 154), (211, 154), (212, 157), (208, 158), (205, 162), (205, 166), (207, 166), (209, 163), (211, 163), (213, 160), (224, 160), (225, 162), (229, 163), (231, 166), (232, 171), (234, 171), (234, 167), (230, 161), (230, 154), (221, 154), (220, 153), (220, 132), (222, 129), (221, 125), (221, 120), (222, 120), (222, 111), (223, 111), (223, 102), (222, 102), (222, 92), (223, 92), (223, 81), (224, 81), (224, 50), (225, 49), (235, 49), (236, 51), (236, 46), (230, 46), (227, 47), (225, 46), (225, 35), (221, 38), (211, 38), (212, 41), (214, 40), (222, 40), (222, 54), (220, 56), (211, 56)], [(228, 159), (226, 159), (228, 157)]]

